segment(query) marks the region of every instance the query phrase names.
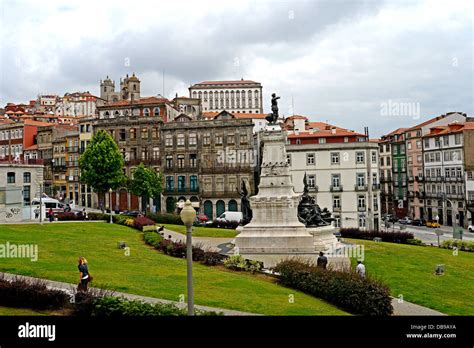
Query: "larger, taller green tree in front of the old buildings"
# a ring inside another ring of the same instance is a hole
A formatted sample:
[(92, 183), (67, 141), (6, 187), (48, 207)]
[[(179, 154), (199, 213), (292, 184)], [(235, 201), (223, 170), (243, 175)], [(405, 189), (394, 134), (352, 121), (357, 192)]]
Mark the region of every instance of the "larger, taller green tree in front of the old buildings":
[(99, 193), (116, 190), (125, 184), (124, 160), (114, 139), (104, 130), (92, 138), (79, 159), (81, 182)]

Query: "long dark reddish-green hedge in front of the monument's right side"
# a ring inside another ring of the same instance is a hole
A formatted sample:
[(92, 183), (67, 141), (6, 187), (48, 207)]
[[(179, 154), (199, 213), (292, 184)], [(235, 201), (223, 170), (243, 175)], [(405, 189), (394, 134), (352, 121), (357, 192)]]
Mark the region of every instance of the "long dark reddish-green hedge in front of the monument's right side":
[(274, 271), (279, 283), (322, 298), (359, 315), (391, 315), (390, 289), (371, 277), (315, 267), (299, 260), (280, 262)]

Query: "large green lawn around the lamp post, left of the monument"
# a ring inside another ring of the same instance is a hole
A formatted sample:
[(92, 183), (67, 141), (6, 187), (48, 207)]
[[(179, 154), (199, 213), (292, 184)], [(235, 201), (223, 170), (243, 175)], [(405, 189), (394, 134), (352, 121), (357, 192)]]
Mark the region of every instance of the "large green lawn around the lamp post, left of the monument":
[[(77, 283), (77, 258), (85, 256), (93, 286), (178, 301), (186, 294), (186, 260), (145, 245), (136, 230), (107, 223), (0, 225), (0, 244), (37, 244), (39, 259), (0, 260), (0, 271)], [(117, 248), (124, 241), (130, 255)], [(196, 304), (267, 315), (346, 315), (344, 311), (266, 276), (194, 263)], [(294, 303), (289, 301), (294, 296)]]

